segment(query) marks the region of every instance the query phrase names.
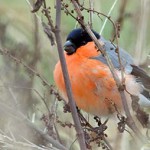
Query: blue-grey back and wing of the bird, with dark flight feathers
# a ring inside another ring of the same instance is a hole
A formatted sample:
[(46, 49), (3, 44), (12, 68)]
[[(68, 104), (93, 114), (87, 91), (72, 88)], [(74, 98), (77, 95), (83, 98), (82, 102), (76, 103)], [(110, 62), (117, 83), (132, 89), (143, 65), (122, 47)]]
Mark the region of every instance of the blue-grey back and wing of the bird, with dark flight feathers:
[[(120, 63), (118, 60), (118, 54), (116, 53), (116, 46), (110, 41), (105, 40), (103, 37), (101, 39), (104, 42), (104, 49), (111, 59), (115, 69), (120, 70)], [(132, 56), (127, 53), (125, 50), (119, 47), (121, 63), (124, 67), (125, 73), (132, 74), (137, 79), (137, 82), (141, 82), (144, 86), (143, 95), (147, 98), (150, 98), (150, 76), (140, 67), (134, 65)], [(107, 61), (103, 55), (92, 57), (92, 59), (99, 60), (104, 64), (107, 64)]]

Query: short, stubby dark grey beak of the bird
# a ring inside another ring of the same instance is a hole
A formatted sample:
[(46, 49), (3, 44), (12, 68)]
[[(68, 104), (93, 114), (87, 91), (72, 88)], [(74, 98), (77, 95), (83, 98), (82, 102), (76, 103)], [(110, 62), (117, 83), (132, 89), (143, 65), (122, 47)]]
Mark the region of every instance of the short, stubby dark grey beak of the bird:
[(76, 46), (71, 41), (66, 41), (64, 44), (64, 50), (68, 55), (71, 55), (76, 51)]

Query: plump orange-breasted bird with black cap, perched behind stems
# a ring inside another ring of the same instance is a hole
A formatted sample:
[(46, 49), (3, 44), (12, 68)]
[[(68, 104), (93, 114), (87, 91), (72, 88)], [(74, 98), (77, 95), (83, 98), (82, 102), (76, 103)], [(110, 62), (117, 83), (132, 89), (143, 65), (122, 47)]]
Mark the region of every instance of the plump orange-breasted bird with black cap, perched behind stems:
[[(104, 50), (121, 80), (116, 45), (93, 29), (92, 32), (104, 43)], [(136, 95), (144, 99), (143, 105), (150, 107), (150, 76), (134, 64), (129, 53), (120, 47), (119, 52), (124, 69), (126, 95)], [(121, 96), (107, 61), (85, 29), (76, 28), (68, 34), (64, 44), (64, 55), (73, 97), (79, 109), (97, 116), (113, 114), (116, 108), (122, 110)], [(53, 74), (60, 94), (68, 103), (60, 61), (55, 65)]]

